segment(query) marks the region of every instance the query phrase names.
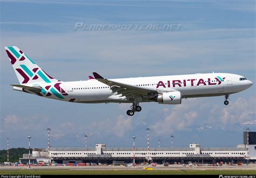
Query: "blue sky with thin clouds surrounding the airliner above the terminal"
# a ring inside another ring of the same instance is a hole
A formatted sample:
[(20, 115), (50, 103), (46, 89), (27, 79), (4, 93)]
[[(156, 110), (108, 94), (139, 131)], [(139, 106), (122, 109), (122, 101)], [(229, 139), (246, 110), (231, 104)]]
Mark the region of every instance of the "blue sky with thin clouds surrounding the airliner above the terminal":
[[(92, 72), (111, 78), (224, 72), (255, 83), (254, 1), (0, 1), (0, 149), (83, 147), (106, 143), (131, 147), (235, 146), (242, 131), (256, 130), (255, 84), (224, 97), (183, 99), (181, 105), (142, 103), (126, 116), (129, 104), (77, 104), (12, 90), (17, 77), (4, 46), (18, 46), (51, 76), (87, 80)], [(84, 24), (181, 24), (180, 30), (74, 31)]]

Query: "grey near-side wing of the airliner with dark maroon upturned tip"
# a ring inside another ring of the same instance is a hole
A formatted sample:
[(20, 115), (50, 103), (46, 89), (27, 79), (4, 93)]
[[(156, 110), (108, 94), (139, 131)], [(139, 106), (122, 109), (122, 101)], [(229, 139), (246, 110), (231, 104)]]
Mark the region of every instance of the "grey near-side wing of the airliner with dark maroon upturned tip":
[[(127, 99), (132, 98), (134, 96), (142, 96), (146, 98), (152, 98), (158, 94), (158, 91), (156, 89), (152, 88), (146, 88), (146, 87), (138, 87), (133, 86), (131, 84), (116, 82), (108, 79), (104, 79), (104, 77), (100, 76), (98, 73), (93, 72), (93, 75), (96, 80), (99, 82), (102, 82), (106, 84), (107, 86), (110, 86), (112, 93), (116, 93), (114, 95), (120, 95), (125, 96)], [(121, 97), (122, 97), (121, 96)]]

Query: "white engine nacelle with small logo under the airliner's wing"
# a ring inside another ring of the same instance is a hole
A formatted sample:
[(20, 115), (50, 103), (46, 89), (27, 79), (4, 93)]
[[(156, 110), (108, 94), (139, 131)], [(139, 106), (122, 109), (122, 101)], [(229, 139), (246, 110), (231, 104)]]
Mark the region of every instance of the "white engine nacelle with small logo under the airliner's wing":
[(161, 104), (180, 104), (181, 93), (179, 91), (164, 92), (157, 96), (156, 102)]

